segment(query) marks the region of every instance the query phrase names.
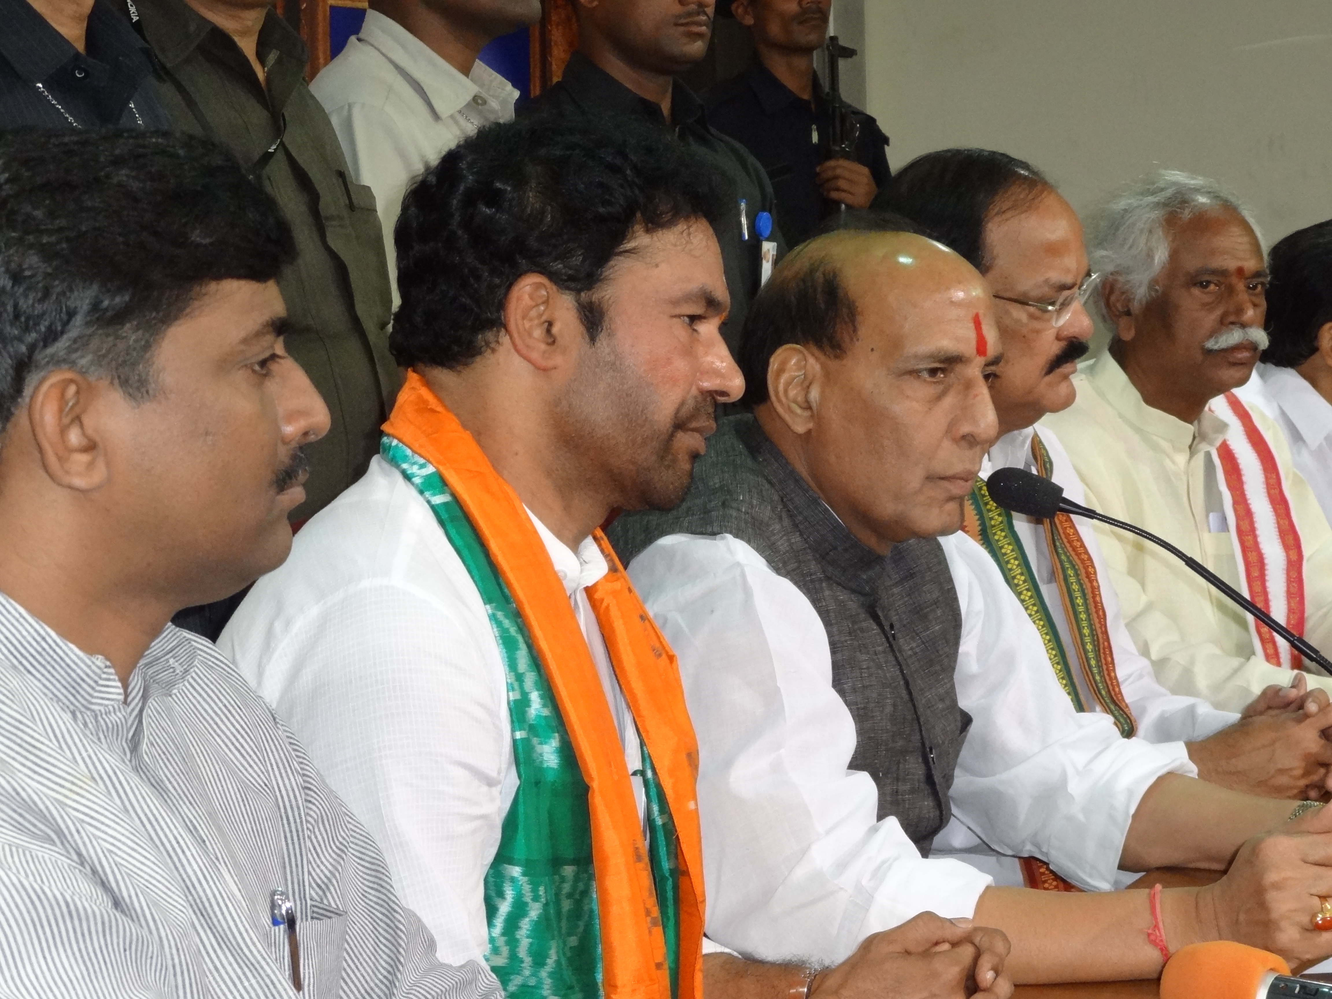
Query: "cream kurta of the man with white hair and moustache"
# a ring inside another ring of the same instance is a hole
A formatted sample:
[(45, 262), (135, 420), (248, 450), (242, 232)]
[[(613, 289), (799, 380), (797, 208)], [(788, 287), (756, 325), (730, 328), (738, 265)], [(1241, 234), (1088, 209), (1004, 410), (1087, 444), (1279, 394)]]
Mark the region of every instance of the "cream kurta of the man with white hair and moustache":
[[(1166, 538), (1241, 589), (1212, 457), (1229, 425), (1212, 413), (1189, 425), (1152, 409), (1110, 354), (1086, 362), (1074, 384), (1078, 401), (1040, 425), (1067, 448), (1087, 505)], [(1280, 430), (1251, 412), (1281, 466), (1304, 546), (1304, 634), (1332, 650), (1332, 529)], [(1095, 530), (1128, 633), (1162, 683), (1233, 711), (1272, 683), (1291, 683), (1289, 670), (1253, 654), (1244, 611), (1183, 562), (1115, 527)], [(1328, 677), (1311, 673), (1309, 685), (1332, 691)]]

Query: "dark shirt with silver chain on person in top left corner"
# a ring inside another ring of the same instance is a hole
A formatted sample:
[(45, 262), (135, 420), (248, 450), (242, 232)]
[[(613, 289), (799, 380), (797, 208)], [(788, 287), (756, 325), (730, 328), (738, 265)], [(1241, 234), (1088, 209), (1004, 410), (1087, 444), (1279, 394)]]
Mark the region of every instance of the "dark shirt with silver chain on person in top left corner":
[(148, 81), (148, 47), (113, 0), (92, 5), (84, 48), (28, 0), (0, 0), (0, 128), (170, 124)]

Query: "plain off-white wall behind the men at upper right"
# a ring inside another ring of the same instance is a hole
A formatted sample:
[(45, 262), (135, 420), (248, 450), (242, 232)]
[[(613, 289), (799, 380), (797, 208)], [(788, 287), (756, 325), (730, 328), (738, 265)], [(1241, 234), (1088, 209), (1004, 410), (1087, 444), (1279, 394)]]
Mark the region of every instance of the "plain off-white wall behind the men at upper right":
[(1228, 184), (1269, 241), (1332, 217), (1329, 0), (866, 0), (864, 20), (894, 166), (1002, 149), (1086, 212), (1162, 165)]

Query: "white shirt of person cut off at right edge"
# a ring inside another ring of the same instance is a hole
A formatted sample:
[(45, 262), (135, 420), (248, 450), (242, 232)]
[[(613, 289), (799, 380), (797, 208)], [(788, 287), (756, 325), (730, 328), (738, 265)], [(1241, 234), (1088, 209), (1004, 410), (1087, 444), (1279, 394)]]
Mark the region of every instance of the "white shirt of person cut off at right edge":
[(1323, 515), (1332, 521), (1332, 402), (1293, 368), (1269, 364), (1260, 364), (1236, 394), (1281, 428), (1295, 470), (1304, 476)]

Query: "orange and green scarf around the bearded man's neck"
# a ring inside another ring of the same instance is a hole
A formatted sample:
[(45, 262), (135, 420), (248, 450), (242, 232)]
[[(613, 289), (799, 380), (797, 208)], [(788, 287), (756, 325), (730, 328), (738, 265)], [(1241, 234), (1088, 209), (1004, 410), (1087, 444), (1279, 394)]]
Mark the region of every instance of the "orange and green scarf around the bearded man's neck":
[(414, 372), (384, 430), (505, 659), (519, 787), (485, 884), (505, 994), (702, 999), (698, 747), (674, 654), (595, 531), (610, 571), (586, 593), (643, 743), (645, 840), (597, 667), (522, 501)]

